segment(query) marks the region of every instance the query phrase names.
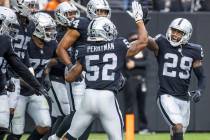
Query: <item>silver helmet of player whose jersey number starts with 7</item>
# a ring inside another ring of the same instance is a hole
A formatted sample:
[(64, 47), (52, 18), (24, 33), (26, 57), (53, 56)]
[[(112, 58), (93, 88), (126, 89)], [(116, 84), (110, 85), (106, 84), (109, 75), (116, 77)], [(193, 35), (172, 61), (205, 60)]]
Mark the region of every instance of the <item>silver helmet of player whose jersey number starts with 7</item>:
[(34, 14), (34, 22), (36, 28), (33, 35), (46, 42), (55, 40), (57, 34), (56, 23), (49, 14), (42, 12)]

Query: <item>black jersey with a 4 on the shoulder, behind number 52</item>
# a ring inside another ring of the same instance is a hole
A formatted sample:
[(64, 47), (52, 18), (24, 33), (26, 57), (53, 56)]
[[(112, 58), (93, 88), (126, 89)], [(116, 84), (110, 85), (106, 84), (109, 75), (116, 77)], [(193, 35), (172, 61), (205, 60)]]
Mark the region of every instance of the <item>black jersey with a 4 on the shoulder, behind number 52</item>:
[(75, 18), (71, 22), (71, 25), (69, 26), (70, 29), (75, 29), (80, 33), (80, 37), (73, 44), (73, 46), (68, 50), (71, 56), (72, 63), (75, 63), (76, 61), (75, 49), (77, 48), (77, 46), (87, 44), (87, 30), (88, 30), (89, 23), (90, 23), (90, 19), (86, 17), (79, 17), (79, 18)]

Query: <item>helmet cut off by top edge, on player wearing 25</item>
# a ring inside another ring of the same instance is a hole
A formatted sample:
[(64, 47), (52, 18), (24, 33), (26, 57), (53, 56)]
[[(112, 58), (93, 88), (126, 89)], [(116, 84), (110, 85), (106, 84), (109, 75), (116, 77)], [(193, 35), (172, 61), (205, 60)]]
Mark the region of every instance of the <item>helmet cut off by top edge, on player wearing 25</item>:
[(39, 10), (38, 0), (11, 0), (11, 6), (17, 13), (25, 17)]

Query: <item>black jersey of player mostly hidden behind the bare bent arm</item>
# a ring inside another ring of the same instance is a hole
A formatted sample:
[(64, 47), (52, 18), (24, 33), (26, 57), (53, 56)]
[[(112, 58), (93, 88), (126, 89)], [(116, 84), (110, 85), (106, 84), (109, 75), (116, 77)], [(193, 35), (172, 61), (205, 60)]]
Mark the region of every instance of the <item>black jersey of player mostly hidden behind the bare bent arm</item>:
[[(56, 27), (57, 30), (57, 36), (56, 39), (58, 42), (61, 41), (61, 39), (63, 38), (63, 36), (65, 35), (67, 28), (62, 26), (62, 25), (58, 25)], [(60, 59), (57, 59), (57, 64), (51, 67), (50, 70), (50, 75), (51, 76), (57, 76), (57, 77), (62, 77), (64, 79), (64, 71), (65, 71), (65, 65), (60, 61)]]

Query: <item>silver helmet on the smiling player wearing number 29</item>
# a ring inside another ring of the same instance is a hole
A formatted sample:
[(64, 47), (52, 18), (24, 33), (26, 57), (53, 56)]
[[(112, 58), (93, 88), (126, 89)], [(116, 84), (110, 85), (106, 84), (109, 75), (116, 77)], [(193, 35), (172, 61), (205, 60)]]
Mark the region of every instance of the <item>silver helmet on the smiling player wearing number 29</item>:
[[(172, 40), (172, 38), (171, 38), (171, 34), (172, 34), (171, 29), (177, 29), (177, 30), (182, 31), (184, 33), (182, 38), (180, 39), (180, 41), (175, 42), (175, 41)], [(190, 23), (190, 21), (188, 21), (185, 18), (176, 18), (169, 25), (168, 30), (166, 32), (166, 38), (168, 39), (168, 41), (170, 42), (170, 44), (173, 47), (177, 47), (177, 46), (179, 46), (181, 44), (188, 43), (188, 41), (191, 38), (192, 31), (193, 31), (193, 28), (192, 28), (192, 24)]]

